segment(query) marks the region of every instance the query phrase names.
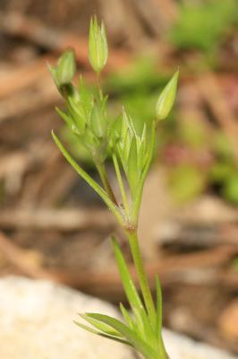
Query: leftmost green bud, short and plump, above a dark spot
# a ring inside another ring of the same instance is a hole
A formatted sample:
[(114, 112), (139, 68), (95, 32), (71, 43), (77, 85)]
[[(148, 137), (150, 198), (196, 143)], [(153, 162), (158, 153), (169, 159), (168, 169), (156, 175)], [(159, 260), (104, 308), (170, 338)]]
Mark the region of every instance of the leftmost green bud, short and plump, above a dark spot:
[(60, 86), (71, 83), (76, 71), (75, 57), (72, 50), (66, 50), (59, 58), (56, 67), (57, 81)]

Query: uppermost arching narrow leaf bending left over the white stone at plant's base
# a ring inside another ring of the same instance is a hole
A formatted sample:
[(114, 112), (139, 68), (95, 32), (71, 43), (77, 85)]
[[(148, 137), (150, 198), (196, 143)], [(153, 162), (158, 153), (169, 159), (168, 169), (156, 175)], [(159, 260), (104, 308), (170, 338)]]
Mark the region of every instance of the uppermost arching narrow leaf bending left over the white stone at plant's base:
[(115, 318), (108, 317), (107, 315), (97, 314), (97, 313), (87, 313), (87, 315), (96, 320), (100, 320), (112, 328), (118, 330), (123, 337), (125, 337), (131, 344), (134, 346), (142, 355), (145, 355), (148, 358), (155, 359), (157, 358), (157, 353), (154, 349), (145, 343), (131, 328), (128, 328), (120, 320)]

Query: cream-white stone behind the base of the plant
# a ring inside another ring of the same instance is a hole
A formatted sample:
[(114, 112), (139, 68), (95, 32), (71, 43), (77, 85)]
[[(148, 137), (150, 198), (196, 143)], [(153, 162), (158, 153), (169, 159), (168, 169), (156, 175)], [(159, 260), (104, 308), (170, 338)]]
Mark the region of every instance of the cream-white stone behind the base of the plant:
[[(118, 317), (106, 302), (63, 285), (23, 277), (0, 279), (1, 359), (133, 359), (132, 350), (77, 327), (77, 312)], [(171, 359), (234, 359), (168, 330)]]

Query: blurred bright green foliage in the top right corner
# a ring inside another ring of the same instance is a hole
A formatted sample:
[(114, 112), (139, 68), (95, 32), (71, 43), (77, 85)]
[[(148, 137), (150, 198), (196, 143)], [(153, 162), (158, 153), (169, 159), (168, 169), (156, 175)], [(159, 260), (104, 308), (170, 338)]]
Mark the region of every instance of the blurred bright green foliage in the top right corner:
[(176, 48), (211, 53), (237, 23), (237, 0), (187, 1), (180, 5), (169, 39)]

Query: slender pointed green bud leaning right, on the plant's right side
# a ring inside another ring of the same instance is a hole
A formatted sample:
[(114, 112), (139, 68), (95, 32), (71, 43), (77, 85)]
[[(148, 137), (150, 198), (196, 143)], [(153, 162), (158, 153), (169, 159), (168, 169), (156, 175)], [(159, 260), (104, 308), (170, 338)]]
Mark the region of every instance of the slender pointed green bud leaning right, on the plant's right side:
[(174, 105), (179, 71), (176, 71), (172, 79), (166, 84), (157, 101), (157, 120), (165, 119)]

